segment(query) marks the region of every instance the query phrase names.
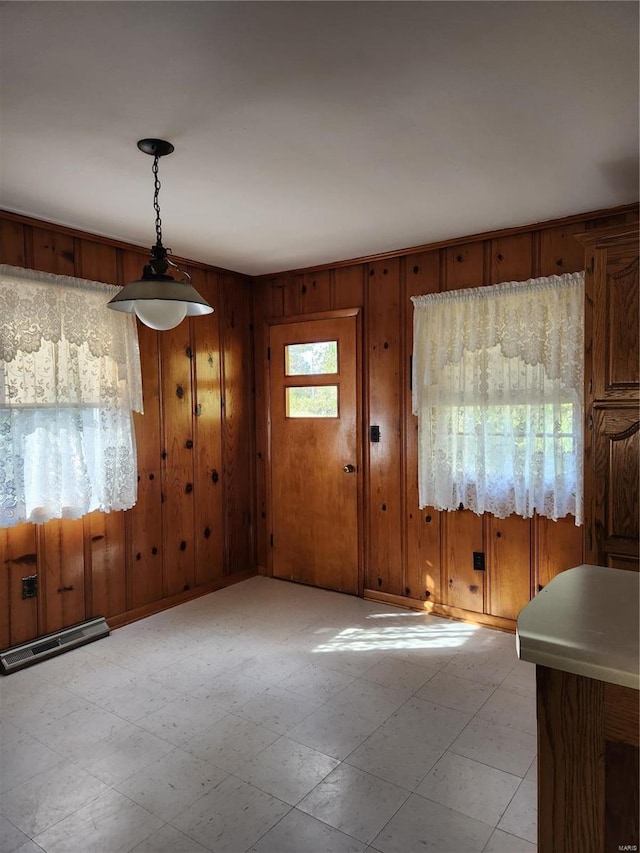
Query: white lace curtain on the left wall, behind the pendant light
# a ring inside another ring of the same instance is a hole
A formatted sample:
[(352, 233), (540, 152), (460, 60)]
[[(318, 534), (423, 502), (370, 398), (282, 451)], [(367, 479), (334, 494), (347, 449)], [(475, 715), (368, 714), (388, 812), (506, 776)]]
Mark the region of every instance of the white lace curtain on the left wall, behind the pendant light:
[(119, 288), (0, 265), (0, 527), (136, 501), (135, 319)]

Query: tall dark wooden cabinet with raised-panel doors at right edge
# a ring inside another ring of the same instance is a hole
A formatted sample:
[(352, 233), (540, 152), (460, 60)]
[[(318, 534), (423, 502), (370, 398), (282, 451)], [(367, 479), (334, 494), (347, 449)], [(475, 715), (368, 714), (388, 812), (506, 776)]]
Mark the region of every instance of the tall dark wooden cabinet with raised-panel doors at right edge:
[(637, 571), (638, 223), (576, 237), (585, 247), (585, 559)]

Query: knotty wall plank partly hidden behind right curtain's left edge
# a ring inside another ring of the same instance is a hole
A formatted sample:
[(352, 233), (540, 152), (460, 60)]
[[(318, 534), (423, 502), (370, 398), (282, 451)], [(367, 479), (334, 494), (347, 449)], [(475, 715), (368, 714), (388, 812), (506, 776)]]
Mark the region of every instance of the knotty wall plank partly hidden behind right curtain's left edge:
[(404, 595), (442, 601), (440, 562), (440, 513), (418, 502), (418, 418), (411, 410), (411, 353), (413, 350), (412, 296), (440, 289), (440, 252), (408, 255), (404, 263), (404, 452), (406, 566)]

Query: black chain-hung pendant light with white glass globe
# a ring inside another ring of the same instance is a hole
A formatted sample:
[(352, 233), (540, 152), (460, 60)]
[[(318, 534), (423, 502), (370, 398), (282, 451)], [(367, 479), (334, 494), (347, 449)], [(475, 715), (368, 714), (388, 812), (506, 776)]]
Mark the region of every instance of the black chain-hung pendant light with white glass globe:
[[(158, 160), (173, 151), (173, 145), (164, 139), (141, 139), (138, 148), (153, 157), (154, 194), (153, 207), (156, 212), (156, 244), (151, 247), (151, 259), (145, 266), (142, 277), (125, 285), (107, 304), (114, 311), (135, 314), (145, 326), (159, 331), (173, 329), (185, 317), (211, 314), (213, 308), (206, 299), (191, 286), (191, 276), (178, 268), (168, 258), (171, 249), (162, 245), (162, 221), (160, 219), (160, 181)], [(176, 270), (179, 281), (167, 275), (167, 270)]]

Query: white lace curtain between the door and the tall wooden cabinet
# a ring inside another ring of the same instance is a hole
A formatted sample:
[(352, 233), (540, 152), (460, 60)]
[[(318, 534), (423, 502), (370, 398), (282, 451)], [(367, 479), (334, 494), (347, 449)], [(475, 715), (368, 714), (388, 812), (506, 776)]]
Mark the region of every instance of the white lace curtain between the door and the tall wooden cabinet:
[(412, 302), (420, 506), (581, 524), (584, 274)]

